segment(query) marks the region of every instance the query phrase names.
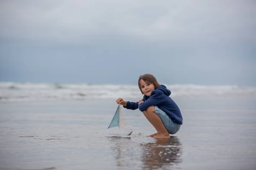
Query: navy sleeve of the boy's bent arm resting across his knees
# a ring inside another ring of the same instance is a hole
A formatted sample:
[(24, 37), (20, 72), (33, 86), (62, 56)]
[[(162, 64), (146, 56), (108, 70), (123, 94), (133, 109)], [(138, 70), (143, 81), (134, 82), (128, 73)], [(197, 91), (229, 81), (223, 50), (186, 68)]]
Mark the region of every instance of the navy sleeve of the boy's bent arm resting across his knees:
[(162, 96), (157, 91), (152, 91), (151, 96), (143, 103), (140, 103), (139, 110), (145, 111), (149, 106), (159, 105), (162, 100)]

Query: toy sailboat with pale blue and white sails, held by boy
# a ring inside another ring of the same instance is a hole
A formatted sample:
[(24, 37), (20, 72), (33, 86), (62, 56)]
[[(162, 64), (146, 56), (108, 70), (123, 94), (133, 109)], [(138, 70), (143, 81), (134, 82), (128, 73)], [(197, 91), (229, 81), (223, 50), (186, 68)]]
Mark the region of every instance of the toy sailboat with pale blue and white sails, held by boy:
[[(110, 128), (113, 129), (110, 130)], [(130, 136), (132, 133), (132, 130), (125, 121), (125, 117), (121, 110), (121, 105), (118, 105), (116, 113), (108, 126), (108, 133), (112, 133), (115, 136)]]

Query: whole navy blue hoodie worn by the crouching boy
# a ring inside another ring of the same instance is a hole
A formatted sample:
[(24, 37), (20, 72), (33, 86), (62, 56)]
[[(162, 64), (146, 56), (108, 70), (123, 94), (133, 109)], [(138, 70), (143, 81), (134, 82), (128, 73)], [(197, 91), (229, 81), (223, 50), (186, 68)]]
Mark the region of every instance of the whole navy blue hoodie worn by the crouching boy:
[(144, 95), (143, 103), (138, 104), (138, 102), (128, 102), (124, 108), (136, 110), (139, 108), (140, 111), (145, 111), (149, 106), (157, 106), (162, 111), (164, 111), (173, 122), (182, 125), (182, 116), (180, 113), (180, 109), (177, 104), (169, 97), (171, 91), (166, 88), (165, 85), (161, 85), (159, 88), (155, 88), (154, 91), (151, 92), (150, 97)]

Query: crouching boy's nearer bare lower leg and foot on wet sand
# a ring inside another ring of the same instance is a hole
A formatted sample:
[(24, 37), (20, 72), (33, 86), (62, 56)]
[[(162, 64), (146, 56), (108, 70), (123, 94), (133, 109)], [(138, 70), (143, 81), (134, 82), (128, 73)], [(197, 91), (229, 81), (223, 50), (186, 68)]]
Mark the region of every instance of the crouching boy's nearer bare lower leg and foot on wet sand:
[[(148, 107), (145, 111), (143, 111), (145, 117), (148, 121), (154, 126), (157, 130), (157, 135), (153, 138), (170, 138), (166, 127), (163, 125), (160, 117), (155, 113), (154, 106)], [(154, 134), (153, 134), (154, 135)]]

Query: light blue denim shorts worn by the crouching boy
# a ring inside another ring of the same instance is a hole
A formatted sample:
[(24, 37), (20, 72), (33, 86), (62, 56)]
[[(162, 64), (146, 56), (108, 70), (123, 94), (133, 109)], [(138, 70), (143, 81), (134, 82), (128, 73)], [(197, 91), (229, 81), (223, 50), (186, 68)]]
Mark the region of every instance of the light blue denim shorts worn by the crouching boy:
[(180, 124), (172, 122), (172, 119), (157, 106), (154, 106), (154, 108), (155, 113), (160, 117), (169, 134), (175, 134), (180, 130)]

